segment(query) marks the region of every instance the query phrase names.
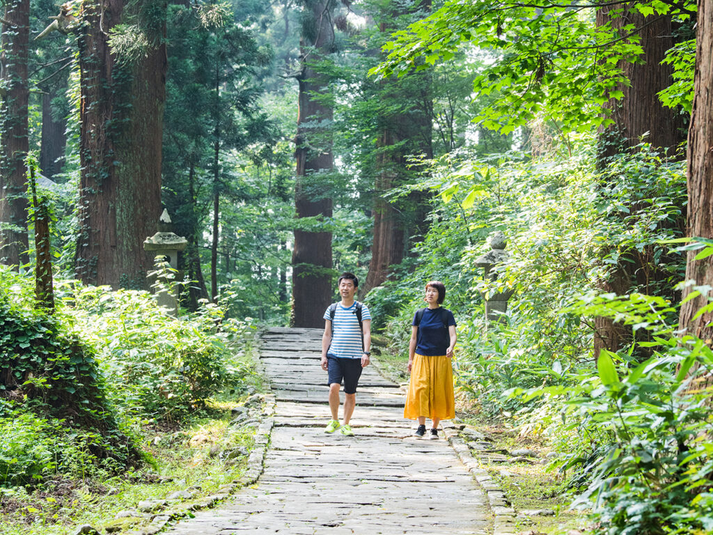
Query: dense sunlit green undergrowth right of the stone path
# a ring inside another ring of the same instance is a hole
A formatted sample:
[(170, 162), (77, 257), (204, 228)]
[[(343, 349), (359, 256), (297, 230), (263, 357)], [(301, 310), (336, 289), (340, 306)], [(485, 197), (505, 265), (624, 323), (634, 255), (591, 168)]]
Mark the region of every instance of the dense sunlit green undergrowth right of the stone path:
[[(467, 418), (498, 430), (501, 444), (552, 453), (540, 465), (549, 476), (523, 466), (500, 477), (513, 502), (553, 494), (555, 509), (581, 511), (593, 534), (707, 533), (713, 353), (682, 337), (677, 320), (685, 253), (706, 258), (713, 244), (682, 237), (684, 161), (642, 143), (597, 168), (591, 139), (570, 141), (536, 158), (434, 163), (431, 226), (411, 271), (365, 297), (384, 329), (385, 367), (404, 368), (424, 285), (441, 280)], [(508, 255), (485, 277), (478, 258), (496, 231)], [(626, 293), (605, 290), (616, 277)], [(485, 301), (498, 293), (512, 296), (508, 310), (488, 321)], [(595, 353), (605, 321), (620, 349)]]

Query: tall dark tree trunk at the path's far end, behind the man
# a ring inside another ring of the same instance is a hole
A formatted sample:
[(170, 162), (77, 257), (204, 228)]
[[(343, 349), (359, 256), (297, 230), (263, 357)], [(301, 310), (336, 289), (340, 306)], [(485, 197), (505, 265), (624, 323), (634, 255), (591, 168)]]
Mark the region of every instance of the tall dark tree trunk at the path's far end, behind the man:
[[(308, 4), (309, 21), (303, 29), (300, 46), (302, 71), (299, 73), (299, 112), (297, 113), (297, 183), (294, 206), (297, 218), (323, 215), (332, 217), (332, 199), (320, 197), (319, 188), (305, 187), (310, 177), (331, 170), (332, 143), (327, 129), (333, 111), (314, 95), (329, 91), (324, 75), (314, 69), (314, 62), (329, 54), (334, 42), (331, 0)], [(324, 124), (326, 123), (326, 127)], [(322, 315), (332, 300), (332, 233), (294, 230), (292, 250), (292, 325), (320, 327)]]

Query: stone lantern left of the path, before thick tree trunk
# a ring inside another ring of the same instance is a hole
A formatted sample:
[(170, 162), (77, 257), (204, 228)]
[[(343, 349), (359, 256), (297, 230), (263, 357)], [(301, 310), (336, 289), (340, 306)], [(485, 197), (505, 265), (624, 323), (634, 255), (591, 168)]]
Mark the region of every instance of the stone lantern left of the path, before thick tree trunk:
[[(174, 270), (176, 279), (180, 279), (178, 270), (178, 252), (185, 249), (188, 240), (183, 236), (173, 233), (173, 224), (168, 215), (168, 210), (163, 210), (158, 219), (158, 232), (143, 242), (143, 248), (154, 254), (154, 265), (156, 270), (167, 267)], [(163, 266), (162, 266), (163, 265)], [(148, 276), (151, 285), (160, 275), (150, 274)], [(169, 282), (168, 277), (163, 277), (163, 282)], [(175, 316), (178, 313), (178, 289), (176, 293), (166, 290), (158, 290), (156, 297), (158, 305), (168, 310), (168, 314)]]

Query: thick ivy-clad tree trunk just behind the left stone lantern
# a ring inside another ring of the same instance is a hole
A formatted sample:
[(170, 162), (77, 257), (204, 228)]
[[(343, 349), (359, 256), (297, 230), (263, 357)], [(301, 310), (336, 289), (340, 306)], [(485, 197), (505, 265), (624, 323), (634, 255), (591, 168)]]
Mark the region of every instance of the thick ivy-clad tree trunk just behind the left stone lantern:
[(76, 274), (88, 284), (146, 287), (153, 258), (143, 240), (161, 213), (161, 137), (165, 45), (118, 64), (108, 32), (122, 21), (123, 0), (84, 4), (81, 72), (80, 235)]

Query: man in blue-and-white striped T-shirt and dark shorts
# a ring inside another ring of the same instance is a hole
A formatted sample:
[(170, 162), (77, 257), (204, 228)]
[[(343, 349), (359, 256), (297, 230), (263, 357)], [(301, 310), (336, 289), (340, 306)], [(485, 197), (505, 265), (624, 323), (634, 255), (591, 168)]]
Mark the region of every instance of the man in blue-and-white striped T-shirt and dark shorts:
[[(334, 303), (324, 312), (322, 335), (322, 370), (329, 373), (329, 410), (332, 419), (325, 433), (339, 432), (354, 436), (349, 420), (356, 406), (356, 384), (361, 370), (369, 366), (371, 352), (371, 315), (369, 309), (354, 300), (359, 279), (354, 273), (339, 277), (339, 295), (342, 301)], [(359, 323), (361, 322), (361, 325)], [(344, 419), (339, 424), (339, 388), (344, 380)]]

